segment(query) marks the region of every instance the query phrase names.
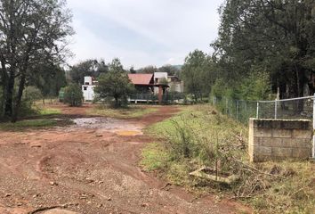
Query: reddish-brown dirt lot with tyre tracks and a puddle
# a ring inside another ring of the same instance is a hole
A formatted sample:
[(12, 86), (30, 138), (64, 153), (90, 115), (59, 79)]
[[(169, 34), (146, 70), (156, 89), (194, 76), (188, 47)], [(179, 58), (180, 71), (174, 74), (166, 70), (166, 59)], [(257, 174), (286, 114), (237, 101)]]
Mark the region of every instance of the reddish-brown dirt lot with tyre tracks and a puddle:
[(77, 125), (0, 131), (0, 213), (72, 213), (51, 210), (59, 207), (93, 214), (197, 214), (242, 208), (212, 196), (196, 198), (139, 167), (141, 148), (152, 141), (142, 128), (171, 117), (176, 107), (124, 120), (87, 117), (89, 106), (59, 108)]

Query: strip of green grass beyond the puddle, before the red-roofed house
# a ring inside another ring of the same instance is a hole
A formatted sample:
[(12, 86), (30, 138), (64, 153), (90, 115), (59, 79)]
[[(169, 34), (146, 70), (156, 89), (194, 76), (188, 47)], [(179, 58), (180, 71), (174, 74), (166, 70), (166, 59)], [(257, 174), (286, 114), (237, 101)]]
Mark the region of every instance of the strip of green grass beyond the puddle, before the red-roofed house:
[(140, 118), (144, 115), (158, 111), (158, 107), (151, 106), (130, 106), (122, 109), (112, 109), (108, 106), (97, 106), (87, 111), (90, 115), (100, 115), (104, 117), (118, 118), (118, 119), (130, 119)]

